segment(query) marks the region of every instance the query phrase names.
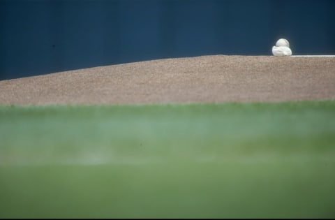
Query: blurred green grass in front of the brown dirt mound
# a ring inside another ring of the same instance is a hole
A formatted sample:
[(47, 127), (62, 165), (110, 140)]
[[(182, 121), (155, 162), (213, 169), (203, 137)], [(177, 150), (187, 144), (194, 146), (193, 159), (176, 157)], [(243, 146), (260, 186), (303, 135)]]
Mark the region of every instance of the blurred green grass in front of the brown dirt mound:
[(335, 101), (0, 106), (0, 218), (334, 218)]

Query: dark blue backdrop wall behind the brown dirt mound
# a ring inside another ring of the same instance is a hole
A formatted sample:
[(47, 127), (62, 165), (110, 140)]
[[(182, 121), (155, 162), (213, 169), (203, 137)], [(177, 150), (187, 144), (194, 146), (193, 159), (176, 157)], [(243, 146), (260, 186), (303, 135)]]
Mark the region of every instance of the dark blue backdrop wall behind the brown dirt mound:
[[(207, 54), (335, 54), (332, 0), (0, 0), (0, 80)], [(335, 68), (335, 67), (334, 67)]]

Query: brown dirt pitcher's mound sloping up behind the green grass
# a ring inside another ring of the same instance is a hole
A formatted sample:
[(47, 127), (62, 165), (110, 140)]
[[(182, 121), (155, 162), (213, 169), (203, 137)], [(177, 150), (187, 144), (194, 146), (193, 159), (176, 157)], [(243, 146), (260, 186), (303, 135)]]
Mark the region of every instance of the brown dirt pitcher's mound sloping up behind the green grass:
[(0, 81), (0, 105), (220, 103), (335, 98), (335, 57), (158, 59)]

